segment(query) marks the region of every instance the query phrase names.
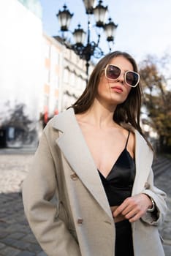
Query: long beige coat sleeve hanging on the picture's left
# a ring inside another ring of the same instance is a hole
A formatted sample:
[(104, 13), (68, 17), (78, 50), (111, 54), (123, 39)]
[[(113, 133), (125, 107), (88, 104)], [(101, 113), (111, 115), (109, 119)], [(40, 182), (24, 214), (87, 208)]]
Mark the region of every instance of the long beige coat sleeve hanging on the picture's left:
[(57, 182), (45, 132), (31, 166), (23, 181), (23, 205), (34, 236), (48, 256), (80, 256), (75, 238), (58, 217), (58, 203), (55, 206), (50, 201), (56, 193)]

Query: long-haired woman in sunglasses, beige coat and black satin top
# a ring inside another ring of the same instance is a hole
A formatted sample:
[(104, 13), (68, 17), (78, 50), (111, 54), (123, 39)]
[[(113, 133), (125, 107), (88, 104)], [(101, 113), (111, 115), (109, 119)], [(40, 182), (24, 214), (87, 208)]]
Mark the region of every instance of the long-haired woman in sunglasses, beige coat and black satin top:
[(128, 53), (110, 53), (45, 127), (23, 203), (48, 256), (164, 255), (157, 226), (167, 206), (140, 128), (139, 80)]

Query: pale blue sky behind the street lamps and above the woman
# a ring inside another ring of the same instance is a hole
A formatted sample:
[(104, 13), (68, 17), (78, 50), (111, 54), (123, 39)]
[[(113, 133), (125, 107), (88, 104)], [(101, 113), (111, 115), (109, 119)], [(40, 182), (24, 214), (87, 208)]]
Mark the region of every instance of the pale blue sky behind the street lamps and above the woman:
[[(40, 0), (42, 5), (43, 30), (50, 36), (59, 34), (56, 18), (58, 10), (64, 4), (74, 13), (69, 29), (74, 31), (80, 23), (87, 29), (87, 15), (82, 0)], [(118, 28), (115, 34), (113, 50), (125, 50), (136, 61), (145, 59), (147, 55), (157, 57), (166, 53), (171, 55), (171, 1), (170, 0), (104, 0), (108, 6), (108, 18), (112, 18)], [(94, 19), (92, 17), (94, 24)], [(92, 26), (91, 35), (93, 35)], [(72, 35), (70, 34), (69, 37)], [(94, 39), (94, 38), (92, 38)], [(102, 35), (102, 49), (107, 53), (107, 42)]]

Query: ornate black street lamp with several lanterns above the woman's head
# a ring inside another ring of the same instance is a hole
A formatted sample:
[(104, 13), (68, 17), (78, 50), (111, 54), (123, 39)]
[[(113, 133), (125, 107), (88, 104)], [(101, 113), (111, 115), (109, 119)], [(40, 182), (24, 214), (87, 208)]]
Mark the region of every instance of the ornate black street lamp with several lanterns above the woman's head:
[[(83, 4), (85, 5), (86, 15), (88, 16), (87, 31), (84, 31), (81, 28), (80, 24), (78, 24), (77, 29), (75, 29), (75, 31), (73, 31), (72, 33), (75, 41), (74, 43), (69, 42), (66, 37), (66, 32), (69, 32), (69, 24), (72, 19), (73, 13), (69, 12), (66, 4), (64, 4), (64, 10), (59, 10), (56, 16), (58, 18), (61, 31), (61, 37), (58, 37), (58, 39), (60, 39), (60, 41), (66, 46), (66, 48), (74, 50), (75, 53), (80, 56), (80, 59), (86, 60), (86, 74), (88, 77), (88, 67), (90, 65), (89, 62), (91, 60), (91, 56), (94, 56), (95, 58), (100, 58), (104, 54), (102, 49), (99, 48), (99, 42), (102, 34), (102, 32), (100, 33), (100, 29), (101, 31), (104, 30), (107, 42), (109, 43), (109, 50), (111, 50), (110, 45), (114, 42), (115, 29), (118, 25), (115, 25), (111, 18), (109, 18), (108, 23), (105, 23), (107, 6), (104, 7), (101, 0), (99, 1), (99, 4), (96, 5), (96, 7), (94, 7), (94, 0), (83, 0)], [(91, 15), (94, 15), (94, 19), (96, 22), (95, 26), (99, 29), (96, 42), (91, 41)]]

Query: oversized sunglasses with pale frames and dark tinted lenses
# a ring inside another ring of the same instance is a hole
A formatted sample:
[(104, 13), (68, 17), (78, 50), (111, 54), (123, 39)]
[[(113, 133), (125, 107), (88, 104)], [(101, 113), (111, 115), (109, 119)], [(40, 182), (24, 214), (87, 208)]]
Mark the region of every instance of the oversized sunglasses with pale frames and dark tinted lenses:
[[(121, 76), (121, 69), (111, 64), (107, 64), (104, 68), (105, 78), (110, 80), (116, 80)], [(124, 72), (124, 81), (127, 86), (136, 87), (140, 81), (140, 75), (134, 71)]]

